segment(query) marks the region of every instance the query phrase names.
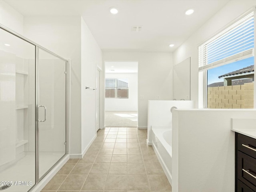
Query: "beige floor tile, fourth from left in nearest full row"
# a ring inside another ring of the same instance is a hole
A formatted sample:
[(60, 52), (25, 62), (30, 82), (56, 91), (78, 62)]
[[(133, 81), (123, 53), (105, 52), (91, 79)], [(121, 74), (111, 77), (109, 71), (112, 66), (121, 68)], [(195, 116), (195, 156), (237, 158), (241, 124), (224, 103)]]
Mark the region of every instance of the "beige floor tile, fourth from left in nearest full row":
[(108, 175), (105, 190), (127, 190), (127, 176)]

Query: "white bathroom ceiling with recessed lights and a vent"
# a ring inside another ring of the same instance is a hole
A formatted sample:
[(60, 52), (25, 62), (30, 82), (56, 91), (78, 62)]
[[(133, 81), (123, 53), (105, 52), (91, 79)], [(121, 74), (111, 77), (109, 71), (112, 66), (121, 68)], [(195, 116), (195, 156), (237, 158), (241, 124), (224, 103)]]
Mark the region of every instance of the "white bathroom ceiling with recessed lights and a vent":
[[(24, 16), (81, 15), (103, 51), (172, 52), (229, 0), (6, 0)], [(109, 12), (116, 7), (118, 14)], [(185, 11), (194, 9), (187, 16)], [(132, 26), (143, 26), (132, 32)], [(175, 44), (170, 48), (169, 44)]]

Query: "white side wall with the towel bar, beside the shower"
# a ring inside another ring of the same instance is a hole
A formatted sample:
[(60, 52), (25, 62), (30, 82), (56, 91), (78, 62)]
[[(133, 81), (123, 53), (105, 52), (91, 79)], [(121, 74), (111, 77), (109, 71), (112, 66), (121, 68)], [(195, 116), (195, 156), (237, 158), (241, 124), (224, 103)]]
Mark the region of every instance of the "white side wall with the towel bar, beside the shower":
[[(102, 51), (88, 26), (81, 19), (81, 129), (82, 154), (96, 137), (96, 88), (97, 66), (102, 68)], [(102, 118), (102, 117), (100, 117)]]

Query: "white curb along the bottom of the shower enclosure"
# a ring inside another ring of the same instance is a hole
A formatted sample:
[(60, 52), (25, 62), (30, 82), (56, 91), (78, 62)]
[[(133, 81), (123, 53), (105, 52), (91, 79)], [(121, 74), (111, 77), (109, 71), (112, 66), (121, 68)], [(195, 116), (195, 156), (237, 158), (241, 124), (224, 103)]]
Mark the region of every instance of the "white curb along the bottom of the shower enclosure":
[(32, 188), (30, 192), (41, 191), (68, 160), (69, 154), (67, 154), (34, 188)]

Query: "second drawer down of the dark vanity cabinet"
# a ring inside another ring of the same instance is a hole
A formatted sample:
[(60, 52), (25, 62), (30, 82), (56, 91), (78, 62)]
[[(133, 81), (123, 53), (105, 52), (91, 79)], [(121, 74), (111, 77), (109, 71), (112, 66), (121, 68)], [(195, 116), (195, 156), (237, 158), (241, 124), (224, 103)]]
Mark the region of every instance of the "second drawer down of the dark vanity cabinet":
[(237, 152), (237, 178), (256, 191), (256, 159)]

